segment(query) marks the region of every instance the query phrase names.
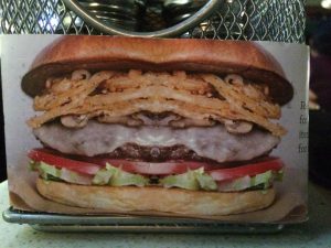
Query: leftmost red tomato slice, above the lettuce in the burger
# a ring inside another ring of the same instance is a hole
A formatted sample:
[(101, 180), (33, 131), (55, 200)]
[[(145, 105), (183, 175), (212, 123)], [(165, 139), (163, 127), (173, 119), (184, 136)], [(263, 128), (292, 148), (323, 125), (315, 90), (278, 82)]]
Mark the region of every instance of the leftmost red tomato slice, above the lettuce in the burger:
[(66, 159), (50, 152), (46, 149), (33, 149), (28, 157), (36, 162), (45, 162), (56, 168), (65, 168), (67, 170), (78, 172), (86, 175), (94, 175), (100, 170), (100, 165)]

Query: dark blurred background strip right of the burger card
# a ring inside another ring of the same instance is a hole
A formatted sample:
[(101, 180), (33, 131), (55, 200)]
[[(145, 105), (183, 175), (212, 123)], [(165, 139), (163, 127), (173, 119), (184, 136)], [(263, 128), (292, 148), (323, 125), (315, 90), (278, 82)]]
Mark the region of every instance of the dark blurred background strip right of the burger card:
[(331, 187), (331, 1), (307, 1), (310, 45), (309, 177)]

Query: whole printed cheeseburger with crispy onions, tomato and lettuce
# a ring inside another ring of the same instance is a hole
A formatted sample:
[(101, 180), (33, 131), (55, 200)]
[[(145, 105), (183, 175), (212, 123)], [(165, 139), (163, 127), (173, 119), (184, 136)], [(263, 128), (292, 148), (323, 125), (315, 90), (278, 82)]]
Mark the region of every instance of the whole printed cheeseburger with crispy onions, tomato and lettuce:
[(62, 36), (22, 79), (38, 192), (111, 214), (213, 217), (275, 201), (293, 89), (258, 44)]

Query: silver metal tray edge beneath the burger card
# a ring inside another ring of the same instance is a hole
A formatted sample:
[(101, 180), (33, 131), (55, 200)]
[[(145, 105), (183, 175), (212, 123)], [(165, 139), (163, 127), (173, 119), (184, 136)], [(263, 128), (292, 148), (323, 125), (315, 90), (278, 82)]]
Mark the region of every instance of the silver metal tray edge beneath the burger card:
[(7, 209), (6, 222), (29, 224), (43, 231), (129, 231), (129, 233), (277, 233), (281, 224), (235, 224), (205, 219), (132, 216), (79, 216), (29, 213)]

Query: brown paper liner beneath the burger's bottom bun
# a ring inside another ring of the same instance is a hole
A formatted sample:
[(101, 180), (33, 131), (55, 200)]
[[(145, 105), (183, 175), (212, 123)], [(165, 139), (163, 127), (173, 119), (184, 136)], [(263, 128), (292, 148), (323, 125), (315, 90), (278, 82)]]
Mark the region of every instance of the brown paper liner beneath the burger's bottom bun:
[(260, 211), (227, 216), (183, 216), (157, 212), (109, 213), (104, 209), (67, 206), (41, 196), (35, 188), (35, 174), (30, 175), (28, 179), (26, 175), (25, 177), (21, 175), (10, 180), (10, 201), (15, 209), (72, 215), (189, 217), (236, 223), (298, 223), (307, 219), (307, 175), (305, 171), (297, 169), (286, 170), (284, 182), (276, 183), (277, 196), (271, 206)]

